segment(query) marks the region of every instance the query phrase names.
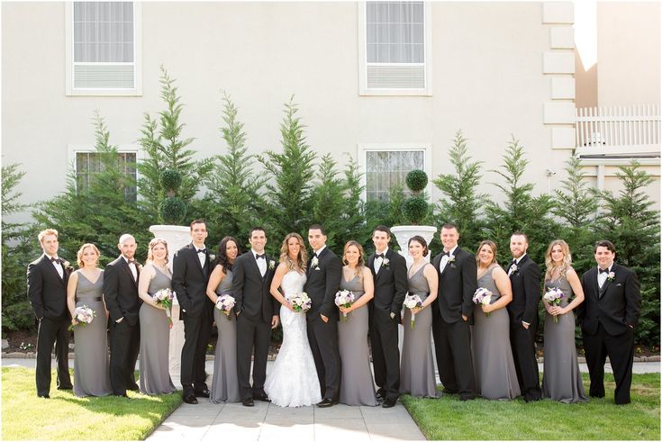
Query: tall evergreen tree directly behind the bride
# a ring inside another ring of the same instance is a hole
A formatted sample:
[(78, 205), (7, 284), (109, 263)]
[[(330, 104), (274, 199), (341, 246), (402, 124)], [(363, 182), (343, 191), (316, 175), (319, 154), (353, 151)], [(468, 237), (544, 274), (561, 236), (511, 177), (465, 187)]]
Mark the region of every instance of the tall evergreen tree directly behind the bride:
[(264, 155), (258, 156), (271, 179), (265, 185), (268, 200), (265, 213), (269, 226), (268, 236), (277, 239), (268, 243), (269, 249), (273, 251), (279, 249), (279, 241), (291, 231), (307, 238), (308, 227), (314, 221), (311, 193), (316, 155), (306, 143), (305, 126), (296, 115), (298, 106), (294, 102), (294, 95), (284, 107), (285, 117), (280, 125), (283, 151), (278, 153), (267, 150)]

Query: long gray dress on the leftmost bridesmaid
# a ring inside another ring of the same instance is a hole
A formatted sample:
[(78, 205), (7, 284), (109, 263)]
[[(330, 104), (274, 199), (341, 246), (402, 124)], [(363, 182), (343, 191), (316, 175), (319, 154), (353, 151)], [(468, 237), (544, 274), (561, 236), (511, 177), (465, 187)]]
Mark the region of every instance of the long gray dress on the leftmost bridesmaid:
[(107, 396), (112, 392), (108, 371), (106, 317), (102, 290), (104, 271), (93, 284), (77, 272), (76, 306), (85, 305), (96, 312), (95, 319), (74, 327), (74, 394), (78, 397)]

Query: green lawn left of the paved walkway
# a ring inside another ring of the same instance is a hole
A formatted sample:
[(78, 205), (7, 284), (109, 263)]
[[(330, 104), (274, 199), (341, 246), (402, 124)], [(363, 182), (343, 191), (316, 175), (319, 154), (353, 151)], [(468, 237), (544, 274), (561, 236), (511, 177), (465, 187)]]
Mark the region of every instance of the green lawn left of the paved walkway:
[(55, 389), (37, 397), (34, 369), (3, 367), (2, 438), (49, 440), (141, 440), (182, 401), (180, 392), (147, 396), (129, 392), (131, 401), (108, 396), (77, 398)]

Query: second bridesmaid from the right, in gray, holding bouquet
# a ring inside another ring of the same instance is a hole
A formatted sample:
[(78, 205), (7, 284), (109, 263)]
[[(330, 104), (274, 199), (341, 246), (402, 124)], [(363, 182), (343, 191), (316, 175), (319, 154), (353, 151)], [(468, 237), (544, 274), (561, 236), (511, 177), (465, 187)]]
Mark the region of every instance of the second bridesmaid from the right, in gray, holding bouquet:
[(511, 280), (496, 262), (493, 241), (480, 243), (476, 264), (478, 287), (492, 292), (489, 305), (474, 306), (472, 356), (478, 392), (485, 399), (514, 399), (521, 391), (512, 358), (510, 317), (505, 308), (512, 301)]

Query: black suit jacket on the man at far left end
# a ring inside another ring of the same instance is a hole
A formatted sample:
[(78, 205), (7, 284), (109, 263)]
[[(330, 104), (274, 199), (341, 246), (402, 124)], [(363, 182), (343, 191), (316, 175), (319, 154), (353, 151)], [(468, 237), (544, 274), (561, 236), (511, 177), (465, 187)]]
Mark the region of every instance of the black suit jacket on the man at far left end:
[(63, 264), (60, 266), (62, 278), (46, 254), (28, 265), (28, 299), (38, 320), (64, 320), (68, 317), (67, 283), (73, 269)]

